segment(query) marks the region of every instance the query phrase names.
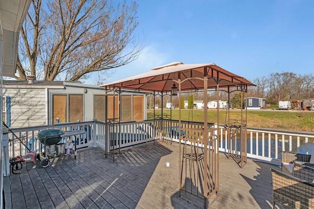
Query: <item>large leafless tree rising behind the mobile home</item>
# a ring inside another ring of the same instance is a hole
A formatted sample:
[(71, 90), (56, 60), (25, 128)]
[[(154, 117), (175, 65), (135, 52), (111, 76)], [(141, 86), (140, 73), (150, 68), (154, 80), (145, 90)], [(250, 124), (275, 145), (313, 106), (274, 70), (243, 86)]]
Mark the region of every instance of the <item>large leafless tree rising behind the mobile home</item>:
[[(46, 2), (46, 1), (45, 1)], [(107, 0), (33, 0), (21, 29), (16, 79), (87, 79), (126, 65), (142, 44), (132, 35), (137, 4)]]

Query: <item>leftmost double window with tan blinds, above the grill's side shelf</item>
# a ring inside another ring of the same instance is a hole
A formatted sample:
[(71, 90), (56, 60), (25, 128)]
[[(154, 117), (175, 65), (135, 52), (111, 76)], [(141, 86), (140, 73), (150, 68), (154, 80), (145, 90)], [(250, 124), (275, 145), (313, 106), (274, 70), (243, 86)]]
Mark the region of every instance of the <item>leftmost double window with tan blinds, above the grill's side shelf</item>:
[(83, 94), (53, 94), (52, 123), (83, 121)]

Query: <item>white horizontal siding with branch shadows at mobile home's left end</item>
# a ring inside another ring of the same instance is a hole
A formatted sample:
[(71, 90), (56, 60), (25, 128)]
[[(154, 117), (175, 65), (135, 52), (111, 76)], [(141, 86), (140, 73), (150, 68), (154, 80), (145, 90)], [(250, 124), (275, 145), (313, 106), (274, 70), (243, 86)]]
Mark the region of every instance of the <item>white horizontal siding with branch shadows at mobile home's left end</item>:
[(10, 127), (46, 125), (45, 88), (4, 88), (10, 97)]

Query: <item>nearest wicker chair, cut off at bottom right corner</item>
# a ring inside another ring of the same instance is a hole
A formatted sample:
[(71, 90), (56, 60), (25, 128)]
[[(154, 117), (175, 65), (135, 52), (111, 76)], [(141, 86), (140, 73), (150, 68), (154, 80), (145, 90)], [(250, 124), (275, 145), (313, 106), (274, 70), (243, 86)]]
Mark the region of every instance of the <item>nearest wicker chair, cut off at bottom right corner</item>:
[(273, 182), (273, 209), (276, 203), (298, 209), (314, 208), (314, 184), (271, 169)]

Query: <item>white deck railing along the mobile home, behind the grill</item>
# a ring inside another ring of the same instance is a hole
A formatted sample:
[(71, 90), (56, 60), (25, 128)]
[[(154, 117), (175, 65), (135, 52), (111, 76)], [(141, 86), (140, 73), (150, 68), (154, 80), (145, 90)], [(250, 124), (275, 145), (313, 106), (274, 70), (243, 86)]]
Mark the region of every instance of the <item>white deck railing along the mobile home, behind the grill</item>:
[[(19, 155), (25, 156), (28, 150), (22, 143), (24, 143), (30, 150), (39, 152), (42, 149), (42, 144), (38, 140), (38, 134), (44, 129), (62, 129), (63, 131), (70, 130), (85, 130), (85, 134), (78, 135), (77, 149), (88, 146), (100, 146), (105, 149), (106, 140), (105, 133), (107, 132), (107, 145), (114, 144), (115, 149), (127, 146), (144, 143), (156, 139), (157, 128), (152, 121), (140, 122), (123, 122), (123, 123), (104, 123), (100, 121), (86, 121), (86, 122), (72, 122), (72, 123), (58, 123), (48, 126), (33, 126), (25, 128), (12, 128), (8, 132), (9, 139), (9, 158)], [(74, 141), (74, 136), (70, 138)], [(62, 139), (64, 143), (68, 139)]]

